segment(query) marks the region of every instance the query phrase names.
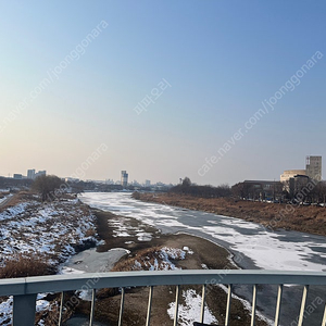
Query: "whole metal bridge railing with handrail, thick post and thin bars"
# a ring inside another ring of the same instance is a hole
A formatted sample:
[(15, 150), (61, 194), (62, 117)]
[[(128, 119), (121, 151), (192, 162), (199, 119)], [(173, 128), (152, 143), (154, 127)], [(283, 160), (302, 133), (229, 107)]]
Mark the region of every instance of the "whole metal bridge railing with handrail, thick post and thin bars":
[[(124, 298), (126, 287), (150, 287), (147, 322), (150, 325), (152, 294), (155, 286), (176, 286), (176, 311), (174, 325), (178, 319), (179, 286), (202, 285), (202, 308), (200, 322), (203, 323), (205, 289), (212, 284), (228, 285), (225, 326), (229, 325), (229, 312), (231, 304), (233, 285), (252, 285), (252, 314), (251, 326), (254, 325), (256, 309), (258, 285), (278, 285), (277, 303), (275, 308), (275, 326), (279, 325), (279, 312), (281, 306), (281, 294), (284, 285), (302, 285), (303, 294), (301, 309), (298, 316), (298, 326), (303, 325), (304, 310), (309, 286), (325, 286), (326, 273), (319, 272), (279, 272), (279, 271), (229, 271), (229, 269), (204, 269), (204, 271), (159, 271), (159, 272), (114, 272), (82, 275), (54, 275), (27, 278), (0, 279), (0, 296), (13, 296), (13, 326), (34, 326), (36, 298), (41, 292), (62, 292), (59, 325), (62, 325), (62, 310), (64, 292), (71, 290), (92, 290), (90, 326), (93, 323), (96, 289), (122, 288), (121, 309), (118, 325), (123, 322)], [(326, 306), (322, 326), (326, 326)]]

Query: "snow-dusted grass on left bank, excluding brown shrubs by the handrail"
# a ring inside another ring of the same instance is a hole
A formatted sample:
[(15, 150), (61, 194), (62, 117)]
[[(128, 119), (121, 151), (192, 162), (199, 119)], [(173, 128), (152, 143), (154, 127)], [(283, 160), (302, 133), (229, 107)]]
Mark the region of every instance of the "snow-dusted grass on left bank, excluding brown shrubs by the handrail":
[(23, 202), (0, 213), (0, 264), (17, 254), (58, 265), (77, 246), (96, 242), (95, 216), (76, 200)]

